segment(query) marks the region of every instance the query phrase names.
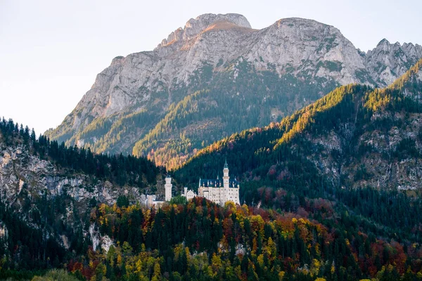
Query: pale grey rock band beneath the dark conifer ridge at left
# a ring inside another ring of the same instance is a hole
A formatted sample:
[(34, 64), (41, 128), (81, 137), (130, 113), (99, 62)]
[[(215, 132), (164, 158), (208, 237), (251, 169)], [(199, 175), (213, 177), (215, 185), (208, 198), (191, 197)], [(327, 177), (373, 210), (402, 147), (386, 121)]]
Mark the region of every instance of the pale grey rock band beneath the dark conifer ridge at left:
[(48, 199), (68, 195), (75, 203), (97, 202), (115, 204), (117, 197), (127, 195), (135, 202), (145, 197), (139, 188), (116, 188), (108, 181), (91, 183), (84, 174), (64, 175), (56, 166), (46, 160), (30, 155), (27, 149), (0, 144), (0, 192), (1, 200), (8, 205), (20, 204), (20, 195)]

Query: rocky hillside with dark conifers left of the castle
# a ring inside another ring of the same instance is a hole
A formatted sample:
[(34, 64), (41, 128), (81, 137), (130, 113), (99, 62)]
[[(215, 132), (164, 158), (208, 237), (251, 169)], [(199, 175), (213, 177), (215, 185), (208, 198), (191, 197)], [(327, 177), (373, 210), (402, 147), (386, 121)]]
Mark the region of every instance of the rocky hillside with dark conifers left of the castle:
[[(56, 268), (95, 244), (98, 203), (139, 202), (164, 170), (144, 158), (94, 155), (0, 122), (0, 271)], [(0, 279), (3, 279), (0, 274)]]

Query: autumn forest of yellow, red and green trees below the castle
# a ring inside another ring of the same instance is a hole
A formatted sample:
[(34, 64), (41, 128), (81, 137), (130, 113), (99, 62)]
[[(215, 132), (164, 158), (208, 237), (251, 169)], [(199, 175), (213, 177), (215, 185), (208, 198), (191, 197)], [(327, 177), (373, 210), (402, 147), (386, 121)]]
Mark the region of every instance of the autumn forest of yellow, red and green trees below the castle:
[(100, 204), (91, 222), (116, 244), (70, 259), (75, 280), (422, 279), (420, 244), (365, 233), (321, 198), (295, 212), (200, 197), (158, 210)]

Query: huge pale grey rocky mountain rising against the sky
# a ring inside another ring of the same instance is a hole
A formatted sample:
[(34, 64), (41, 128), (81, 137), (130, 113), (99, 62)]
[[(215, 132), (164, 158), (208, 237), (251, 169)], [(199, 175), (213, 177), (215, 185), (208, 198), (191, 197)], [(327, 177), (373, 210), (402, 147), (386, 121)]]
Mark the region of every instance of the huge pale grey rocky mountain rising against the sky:
[(114, 58), (45, 134), (174, 168), (198, 149), (278, 122), (337, 86), (387, 86), (421, 57), (421, 46), (385, 39), (364, 53), (314, 20), (286, 18), (254, 30), (243, 15), (200, 15), (153, 51)]

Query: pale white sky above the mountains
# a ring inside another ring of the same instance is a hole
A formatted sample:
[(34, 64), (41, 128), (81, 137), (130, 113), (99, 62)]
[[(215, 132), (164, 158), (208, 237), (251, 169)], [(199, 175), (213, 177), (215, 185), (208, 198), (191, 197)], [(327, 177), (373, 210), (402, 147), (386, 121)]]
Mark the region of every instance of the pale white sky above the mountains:
[(0, 0), (0, 117), (58, 126), (117, 55), (151, 51), (190, 18), (240, 13), (255, 29), (281, 18), (337, 27), (362, 51), (381, 39), (422, 44), (422, 1)]

